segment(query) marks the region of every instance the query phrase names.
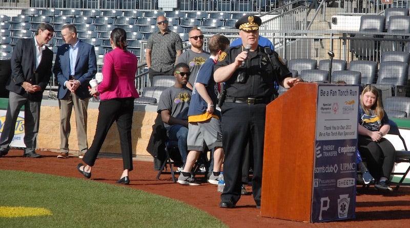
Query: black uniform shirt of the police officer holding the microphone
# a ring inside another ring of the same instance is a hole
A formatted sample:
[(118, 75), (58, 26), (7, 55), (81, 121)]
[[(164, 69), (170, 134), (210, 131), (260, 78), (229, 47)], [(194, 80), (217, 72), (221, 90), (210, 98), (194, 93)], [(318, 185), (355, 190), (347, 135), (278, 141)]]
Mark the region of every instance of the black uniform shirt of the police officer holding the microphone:
[[(231, 64), (243, 50), (243, 46), (239, 45), (222, 52), (214, 69)], [(281, 82), (286, 77), (292, 77), (292, 74), (276, 52), (272, 52), (271, 59), (273, 66), (268, 54), (264, 52), (264, 48), (260, 45), (256, 51), (249, 52), (248, 58), (244, 60), (246, 66), (240, 66), (231, 78), (226, 81), (227, 96), (235, 98), (272, 98), (274, 81)], [(244, 83), (235, 82), (240, 72), (246, 74)]]

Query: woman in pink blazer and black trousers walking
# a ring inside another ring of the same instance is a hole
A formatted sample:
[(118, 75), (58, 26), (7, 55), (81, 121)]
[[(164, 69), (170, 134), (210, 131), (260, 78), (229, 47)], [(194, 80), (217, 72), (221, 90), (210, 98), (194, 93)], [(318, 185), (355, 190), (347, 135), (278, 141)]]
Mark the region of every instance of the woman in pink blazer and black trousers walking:
[(115, 28), (111, 32), (110, 41), (113, 51), (104, 57), (103, 81), (89, 89), (90, 95), (99, 95), (101, 100), (98, 107), (97, 129), (93, 143), (83, 157), (85, 165), (78, 164), (77, 170), (86, 178), (91, 177), (91, 169), (101, 145), (111, 125), (116, 121), (124, 165), (124, 171), (117, 183), (128, 185), (130, 183), (128, 172), (133, 169), (131, 126), (134, 99), (139, 97), (134, 84), (138, 60), (126, 49), (127, 34), (124, 29)]

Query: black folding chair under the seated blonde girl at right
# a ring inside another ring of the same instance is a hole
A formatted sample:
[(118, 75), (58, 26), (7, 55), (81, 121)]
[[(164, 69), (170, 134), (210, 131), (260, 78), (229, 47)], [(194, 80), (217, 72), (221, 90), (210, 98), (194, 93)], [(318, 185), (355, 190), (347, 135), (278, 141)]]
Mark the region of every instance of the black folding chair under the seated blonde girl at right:
[(402, 172), (394, 171), (391, 173), (391, 175), (401, 176), (398, 182), (393, 182), (393, 181), (390, 182), (392, 185), (396, 185), (396, 190), (398, 190), (400, 186), (410, 186), (410, 183), (403, 183), (408, 172), (410, 171), (410, 151), (407, 150), (406, 143), (400, 134), (399, 127), (397, 126), (397, 124), (393, 120), (389, 120), (389, 124), (390, 124), (390, 130), (388, 131), (388, 134), (398, 135), (404, 146), (404, 150), (396, 150), (395, 163), (408, 163), (408, 167), (405, 171), (402, 171)]

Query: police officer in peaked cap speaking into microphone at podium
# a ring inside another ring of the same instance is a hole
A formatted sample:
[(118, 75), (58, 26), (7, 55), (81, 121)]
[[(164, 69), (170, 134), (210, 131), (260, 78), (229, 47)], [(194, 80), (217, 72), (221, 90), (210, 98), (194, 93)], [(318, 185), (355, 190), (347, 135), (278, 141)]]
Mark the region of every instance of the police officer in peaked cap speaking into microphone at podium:
[[(225, 82), (226, 98), (222, 110), (222, 135), (225, 151), (223, 175), (226, 183), (221, 208), (234, 208), (241, 193), (241, 168), (244, 148), (250, 142), (253, 151), (252, 188), (256, 207), (260, 208), (263, 138), (266, 105), (273, 100), (274, 81), (285, 88), (299, 82), (276, 52), (258, 45), (261, 19), (244, 15), (235, 24), (242, 45), (221, 53), (215, 65), (214, 79)], [(249, 51), (248, 51), (249, 50)]]

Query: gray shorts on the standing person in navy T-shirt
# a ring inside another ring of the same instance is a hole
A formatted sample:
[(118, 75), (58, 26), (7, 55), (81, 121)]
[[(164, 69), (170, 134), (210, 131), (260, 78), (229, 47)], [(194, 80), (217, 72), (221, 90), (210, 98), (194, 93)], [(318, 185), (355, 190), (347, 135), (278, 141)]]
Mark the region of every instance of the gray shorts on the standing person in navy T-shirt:
[(208, 149), (222, 147), (221, 123), (216, 118), (204, 122), (189, 123), (188, 125), (188, 150), (203, 151), (205, 144)]

